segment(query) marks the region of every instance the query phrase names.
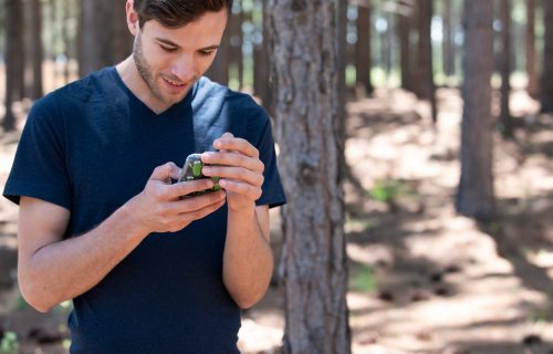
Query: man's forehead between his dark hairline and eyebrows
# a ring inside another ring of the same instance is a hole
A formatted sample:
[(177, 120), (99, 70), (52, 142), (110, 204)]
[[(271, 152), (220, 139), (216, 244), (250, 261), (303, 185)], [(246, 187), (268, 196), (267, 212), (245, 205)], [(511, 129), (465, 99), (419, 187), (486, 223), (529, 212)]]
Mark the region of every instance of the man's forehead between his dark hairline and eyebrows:
[(149, 39), (164, 39), (182, 48), (219, 44), (227, 25), (228, 12), (206, 12), (196, 21), (184, 27), (167, 28), (156, 20), (144, 23), (143, 35)]

